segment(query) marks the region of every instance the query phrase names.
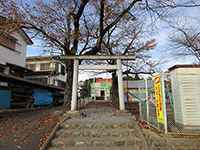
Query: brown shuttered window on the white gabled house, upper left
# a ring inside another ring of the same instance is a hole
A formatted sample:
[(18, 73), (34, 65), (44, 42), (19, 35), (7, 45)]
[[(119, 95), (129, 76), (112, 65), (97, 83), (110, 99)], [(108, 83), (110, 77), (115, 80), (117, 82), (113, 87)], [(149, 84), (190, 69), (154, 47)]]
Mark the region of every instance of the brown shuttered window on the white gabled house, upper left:
[(8, 35), (8, 34), (1, 34), (0, 36), (0, 45), (9, 48), (11, 50), (16, 50), (16, 43), (17, 39)]

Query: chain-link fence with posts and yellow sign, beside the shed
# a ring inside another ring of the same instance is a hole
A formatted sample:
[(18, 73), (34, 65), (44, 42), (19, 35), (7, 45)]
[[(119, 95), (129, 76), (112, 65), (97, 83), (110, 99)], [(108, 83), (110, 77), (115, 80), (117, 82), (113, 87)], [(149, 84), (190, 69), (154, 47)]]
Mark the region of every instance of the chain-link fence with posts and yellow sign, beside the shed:
[(175, 113), (183, 112), (175, 109), (174, 93), (169, 76), (165, 74), (159, 76), (158, 81), (155, 80), (155, 78), (148, 81), (142, 80), (140, 82), (146, 82), (146, 86), (134, 90), (129, 89), (133, 99), (139, 101), (140, 119), (164, 133), (199, 134), (198, 128), (185, 128), (178, 123)]

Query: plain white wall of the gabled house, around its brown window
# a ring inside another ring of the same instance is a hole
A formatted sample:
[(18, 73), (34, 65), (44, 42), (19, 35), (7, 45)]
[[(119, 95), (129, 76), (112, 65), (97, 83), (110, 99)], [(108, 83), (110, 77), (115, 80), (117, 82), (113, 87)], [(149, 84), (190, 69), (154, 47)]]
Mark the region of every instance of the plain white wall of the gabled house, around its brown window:
[(11, 63), (25, 67), (27, 43), (19, 33), (16, 32), (12, 35), (18, 40), (16, 44), (16, 51), (0, 45), (0, 63)]

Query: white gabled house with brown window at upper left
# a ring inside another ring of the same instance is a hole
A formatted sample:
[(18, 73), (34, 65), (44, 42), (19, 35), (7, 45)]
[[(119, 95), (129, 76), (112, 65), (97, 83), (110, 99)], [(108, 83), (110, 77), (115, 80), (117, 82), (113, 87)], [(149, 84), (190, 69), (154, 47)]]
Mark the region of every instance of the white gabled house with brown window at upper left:
[(0, 64), (14, 64), (25, 67), (26, 48), (33, 44), (28, 35), (22, 30), (10, 34), (0, 34)]

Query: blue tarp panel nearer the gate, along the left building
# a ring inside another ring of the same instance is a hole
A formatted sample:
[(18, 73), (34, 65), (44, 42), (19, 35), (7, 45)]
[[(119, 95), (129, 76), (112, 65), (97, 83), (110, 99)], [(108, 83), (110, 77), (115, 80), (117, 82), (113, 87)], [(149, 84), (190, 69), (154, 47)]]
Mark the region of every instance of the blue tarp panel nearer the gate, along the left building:
[(33, 90), (34, 105), (51, 105), (53, 103), (52, 93), (46, 89)]

